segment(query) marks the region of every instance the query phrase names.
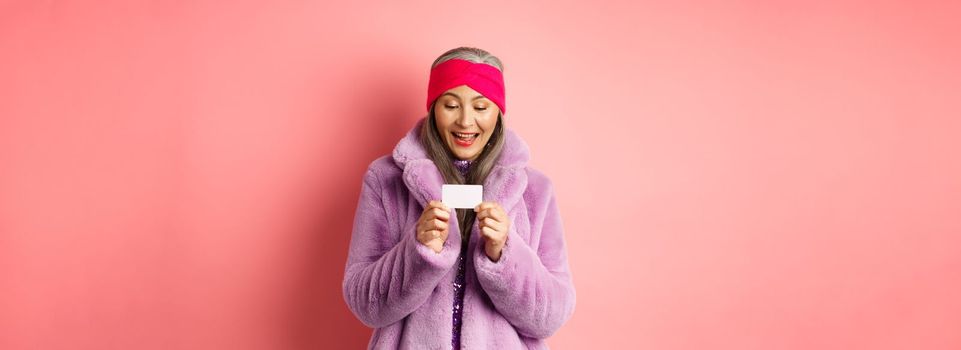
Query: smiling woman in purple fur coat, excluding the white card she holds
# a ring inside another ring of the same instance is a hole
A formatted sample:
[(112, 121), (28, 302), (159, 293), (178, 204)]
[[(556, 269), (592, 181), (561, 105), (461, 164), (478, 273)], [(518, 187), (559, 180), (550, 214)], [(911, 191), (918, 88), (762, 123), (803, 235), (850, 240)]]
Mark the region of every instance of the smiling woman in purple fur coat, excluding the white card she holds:
[[(441, 55), (427, 117), (364, 175), (343, 293), (369, 348), (545, 349), (574, 311), (552, 183), (504, 126), (502, 70)], [(482, 184), (484, 202), (451, 215), (445, 183)]]

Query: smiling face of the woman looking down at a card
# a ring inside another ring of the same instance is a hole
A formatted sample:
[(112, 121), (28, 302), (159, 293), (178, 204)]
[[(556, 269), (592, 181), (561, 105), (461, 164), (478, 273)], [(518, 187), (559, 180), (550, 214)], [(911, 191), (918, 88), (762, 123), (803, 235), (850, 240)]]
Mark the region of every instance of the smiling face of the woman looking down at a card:
[(434, 103), (437, 131), (457, 159), (475, 160), (497, 126), (500, 108), (467, 85), (447, 90)]

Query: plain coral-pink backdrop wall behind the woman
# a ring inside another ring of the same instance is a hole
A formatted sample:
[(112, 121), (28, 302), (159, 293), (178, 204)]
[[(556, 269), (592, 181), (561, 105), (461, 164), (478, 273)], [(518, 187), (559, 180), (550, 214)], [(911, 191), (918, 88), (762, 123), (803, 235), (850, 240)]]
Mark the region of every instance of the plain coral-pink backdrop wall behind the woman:
[(961, 3), (0, 1), (0, 348), (363, 348), (429, 65), (506, 65), (557, 349), (961, 348)]

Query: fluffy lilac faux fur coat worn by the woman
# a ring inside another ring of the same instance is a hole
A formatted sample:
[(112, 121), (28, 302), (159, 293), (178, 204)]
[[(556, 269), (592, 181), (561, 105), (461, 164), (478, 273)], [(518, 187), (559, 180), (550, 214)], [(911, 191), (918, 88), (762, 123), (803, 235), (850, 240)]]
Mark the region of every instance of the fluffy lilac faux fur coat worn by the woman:
[[(368, 348), (450, 349), (453, 281), (461, 234), (451, 215), (443, 250), (417, 242), (417, 219), (444, 183), (418, 135), (420, 119), (364, 175), (354, 216), (343, 293), (374, 328)], [(505, 129), (503, 153), (484, 183), (484, 200), (511, 220), (498, 262), (484, 254), (475, 222), (466, 257), (461, 346), (546, 349), (544, 339), (574, 312), (575, 292), (552, 184), (527, 166), (527, 144)]]

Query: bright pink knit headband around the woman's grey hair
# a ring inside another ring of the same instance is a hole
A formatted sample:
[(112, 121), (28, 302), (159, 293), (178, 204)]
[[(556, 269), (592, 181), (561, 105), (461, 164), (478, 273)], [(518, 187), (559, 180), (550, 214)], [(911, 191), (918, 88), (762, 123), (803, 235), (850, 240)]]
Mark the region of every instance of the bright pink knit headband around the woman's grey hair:
[(467, 85), (500, 107), (506, 114), (504, 104), (504, 77), (501, 71), (486, 63), (474, 63), (462, 59), (451, 59), (438, 64), (430, 70), (427, 84), (427, 112), (430, 105), (440, 95), (452, 88)]

